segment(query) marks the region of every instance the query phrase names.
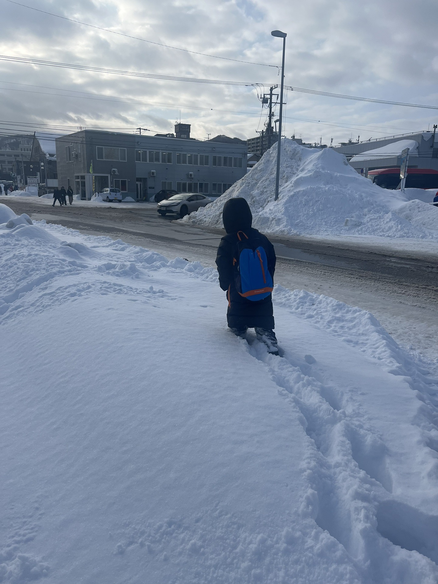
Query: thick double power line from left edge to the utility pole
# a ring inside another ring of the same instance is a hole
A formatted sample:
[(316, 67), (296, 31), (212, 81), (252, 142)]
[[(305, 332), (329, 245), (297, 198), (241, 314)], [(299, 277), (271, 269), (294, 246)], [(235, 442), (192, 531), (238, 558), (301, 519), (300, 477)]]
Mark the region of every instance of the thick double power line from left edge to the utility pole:
[[(9, 0), (8, 0), (9, 1)], [(261, 85), (260, 83), (248, 83), (244, 81), (220, 81), (218, 79), (197, 79), (194, 77), (177, 77), (176, 75), (158, 75), (155, 73), (142, 73), (140, 71), (124, 71), (123, 69), (106, 69), (104, 67), (90, 67), (89, 65), (74, 65), (72, 63), (62, 63), (57, 61), (44, 61), (27, 57), (12, 57), (12, 55), (0, 55), (0, 61), (25, 63), (30, 65), (43, 65), (44, 67), (60, 67), (63, 69), (74, 69), (75, 71), (93, 71), (111, 75), (126, 75), (127, 77), (139, 77), (147, 79), (164, 79), (165, 81), (187, 81), (192, 83), (203, 83), (213, 85), (236, 85), (250, 87)]]

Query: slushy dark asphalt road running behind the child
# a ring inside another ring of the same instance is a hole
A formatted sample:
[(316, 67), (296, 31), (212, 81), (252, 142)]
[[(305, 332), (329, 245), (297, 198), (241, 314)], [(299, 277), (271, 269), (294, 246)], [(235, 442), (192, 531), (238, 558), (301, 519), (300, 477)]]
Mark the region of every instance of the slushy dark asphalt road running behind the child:
[[(153, 249), (168, 257), (182, 256), (214, 265), (222, 230), (181, 224), (160, 217), (151, 203), (75, 204), (51, 207), (50, 200), (0, 197), (16, 214), (45, 219), (88, 235), (107, 235)], [(326, 294), (369, 310), (395, 340), (438, 373), (438, 256), (367, 248), (363, 244), (305, 237), (270, 237), (278, 263), (276, 283)], [(225, 310), (225, 308), (224, 308)]]

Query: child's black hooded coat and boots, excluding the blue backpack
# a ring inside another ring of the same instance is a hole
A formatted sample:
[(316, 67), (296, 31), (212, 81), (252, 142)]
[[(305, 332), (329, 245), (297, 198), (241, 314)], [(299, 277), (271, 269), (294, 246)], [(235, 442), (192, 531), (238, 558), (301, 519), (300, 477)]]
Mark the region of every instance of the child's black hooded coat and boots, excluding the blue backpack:
[(227, 235), (221, 239), (217, 250), (216, 265), (219, 273), (219, 285), (227, 290), (228, 326), (237, 336), (245, 336), (248, 328), (255, 329), (257, 338), (265, 343), (269, 353), (278, 355), (277, 339), (273, 328), (274, 317), (272, 307), (272, 295), (269, 294), (262, 300), (252, 301), (238, 293), (235, 285), (233, 267), (234, 249), (238, 242), (238, 232), (258, 241), (266, 252), (267, 268), (272, 278), (274, 277), (276, 256), (272, 243), (258, 230), (253, 229), (252, 214), (248, 203), (241, 197), (228, 200), (222, 212), (225, 231)]

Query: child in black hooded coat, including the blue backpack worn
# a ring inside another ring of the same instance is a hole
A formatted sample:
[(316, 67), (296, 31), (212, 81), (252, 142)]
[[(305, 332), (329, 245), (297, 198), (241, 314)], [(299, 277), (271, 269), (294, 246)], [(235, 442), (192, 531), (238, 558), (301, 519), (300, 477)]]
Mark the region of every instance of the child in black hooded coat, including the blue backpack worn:
[(253, 328), (268, 352), (278, 355), (271, 294), (276, 263), (274, 246), (251, 227), (251, 209), (242, 197), (225, 203), (222, 219), (227, 235), (219, 244), (216, 265), (219, 285), (227, 290), (228, 327), (242, 338), (248, 328)]

